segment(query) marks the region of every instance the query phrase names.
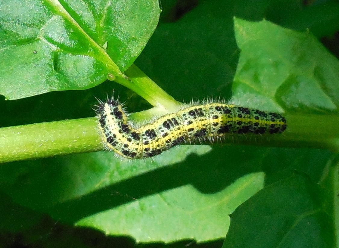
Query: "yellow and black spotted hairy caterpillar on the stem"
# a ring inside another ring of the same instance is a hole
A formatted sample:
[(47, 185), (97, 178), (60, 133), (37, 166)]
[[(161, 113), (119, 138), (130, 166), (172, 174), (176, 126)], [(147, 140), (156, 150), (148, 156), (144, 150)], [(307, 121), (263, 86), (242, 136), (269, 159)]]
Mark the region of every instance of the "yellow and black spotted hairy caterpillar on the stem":
[(173, 146), (222, 138), (226, 133), (282, 133), (286, 120), (279, 113), (225, 103), (184, 107), (151, 123), (135, 127), (119, 101), (99, 101), (99, 129), (106, 146), (127, 159), (156, 156)]

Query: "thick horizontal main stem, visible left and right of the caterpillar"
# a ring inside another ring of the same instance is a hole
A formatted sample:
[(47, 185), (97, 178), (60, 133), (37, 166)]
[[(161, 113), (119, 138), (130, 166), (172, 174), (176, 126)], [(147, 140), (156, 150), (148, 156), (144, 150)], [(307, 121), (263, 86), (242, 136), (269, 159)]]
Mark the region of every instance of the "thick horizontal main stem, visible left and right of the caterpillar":
[[(282, 134), (229, 135), (225, 143), (339, 150), (339, 129), (334, 125), (339, 116), (285, 117)], [(0, 128), (0, 163), (102, 150), (97, 130), (95, 117)]]

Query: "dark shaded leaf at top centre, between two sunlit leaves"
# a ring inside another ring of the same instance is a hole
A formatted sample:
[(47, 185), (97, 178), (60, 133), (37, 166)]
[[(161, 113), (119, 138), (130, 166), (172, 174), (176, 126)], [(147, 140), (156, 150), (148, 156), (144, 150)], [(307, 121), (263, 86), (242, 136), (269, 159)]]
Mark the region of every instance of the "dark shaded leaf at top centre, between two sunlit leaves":
[(233, 8), (232, 1), (202, 1), (183, 19), (162, 22), (136, 65), (175, 99), (230, 99), (239, 58)]

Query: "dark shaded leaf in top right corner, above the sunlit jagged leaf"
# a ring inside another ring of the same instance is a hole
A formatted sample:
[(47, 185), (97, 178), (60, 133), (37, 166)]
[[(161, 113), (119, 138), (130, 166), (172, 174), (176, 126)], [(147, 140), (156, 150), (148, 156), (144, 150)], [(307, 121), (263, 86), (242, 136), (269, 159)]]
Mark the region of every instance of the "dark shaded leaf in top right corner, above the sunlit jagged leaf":
[(244, 20), (266, 20), (288, 29), (310, 30), (317, 38), (331, 37), (339, 29), (339, 3), (336, 0), (299, 2), (294, 0), (262, 0), (248, 4), (239, 0), (235, 16)]

